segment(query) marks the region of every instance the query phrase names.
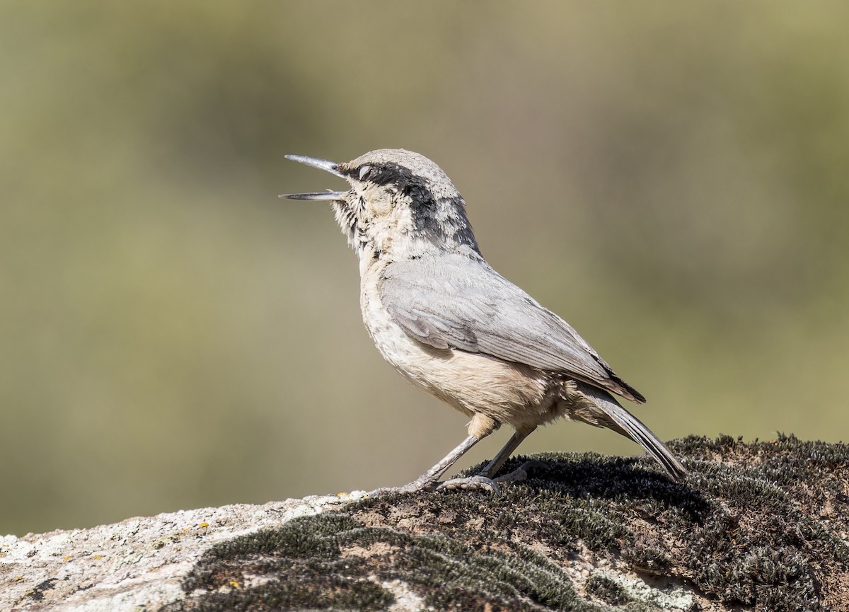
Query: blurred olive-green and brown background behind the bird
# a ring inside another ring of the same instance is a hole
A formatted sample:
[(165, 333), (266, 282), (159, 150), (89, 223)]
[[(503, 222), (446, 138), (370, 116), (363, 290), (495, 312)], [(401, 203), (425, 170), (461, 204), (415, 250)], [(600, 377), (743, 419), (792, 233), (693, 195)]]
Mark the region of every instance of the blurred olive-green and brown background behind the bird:
[[(846, 3), (0, 4), (0, 533), (399, 485), (340, 188), (419, 151), (661, 438), (846, 439)], [(501, 430), (459, 467), (489, 458)], [(524, 452), (633, 454), (556, 424)]]

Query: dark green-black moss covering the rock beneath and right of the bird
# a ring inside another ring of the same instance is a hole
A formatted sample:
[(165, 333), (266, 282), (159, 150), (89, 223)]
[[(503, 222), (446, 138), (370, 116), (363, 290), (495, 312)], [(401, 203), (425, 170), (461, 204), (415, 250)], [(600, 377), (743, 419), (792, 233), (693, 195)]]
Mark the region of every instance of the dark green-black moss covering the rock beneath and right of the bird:
[(672, 448), (682, 485), (644, 459), (546, 455), (548, 472), (499, 497), (394, 495), (295, 519), (213, 547), (184, 583), (203, 594), (167, 610), (385, 609), (394, 580), (435, 609), (654, 609), (601, 576), (573, 584), (588, 551), (725, 608), (849, 609), (849, 447)]

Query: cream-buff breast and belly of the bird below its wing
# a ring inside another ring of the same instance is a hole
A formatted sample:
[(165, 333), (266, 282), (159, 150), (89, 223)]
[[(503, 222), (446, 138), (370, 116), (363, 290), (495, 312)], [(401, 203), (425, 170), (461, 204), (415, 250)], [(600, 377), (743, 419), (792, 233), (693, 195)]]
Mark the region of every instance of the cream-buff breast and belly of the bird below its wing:
[(363, 292), (363, 321), (380, 354), (419, 389), (460, 412), (532, 428), (556, 418), (557, 393), (538, 370), (481, 353), (436, 349), (414, 340)]

